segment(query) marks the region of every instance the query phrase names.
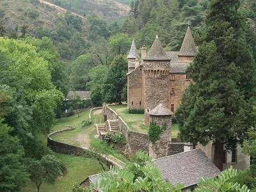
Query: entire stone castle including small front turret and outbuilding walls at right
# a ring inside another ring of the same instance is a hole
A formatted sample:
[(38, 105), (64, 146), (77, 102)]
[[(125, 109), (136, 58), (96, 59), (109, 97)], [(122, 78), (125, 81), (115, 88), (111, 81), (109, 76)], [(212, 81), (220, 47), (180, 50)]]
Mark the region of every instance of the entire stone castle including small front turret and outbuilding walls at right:
[[(151, 120), (159, 125), (163, 125), (163, 122), (168, 124), (168, 128), (161, 134), (159, 141), (148, 143), (148, 152), (153, 158), (164, 157), (172, 153), (173, 147), (170, 146), (174, 144), (171, 137), (172, 116), (180, 104), (186, 86), (192, 83), (186, 74), (186, 68), (196, 52), (197, 48), (189, 26), (180, 51), (164, 51), (158, 36), (156, 36), (148, 54), (146, 54), (145, 45), (141, 48), (140, 61), (136, 44), (134, 40), (132, 41), (127, 56), (127, 108), (145, 109), (145, 125), (149, 125)], [(183, 145), (184, 151), (192, 149), (189, 143)], [(196, 148), (201, 148), (213, 162), (213, 141), (206, 146), (198, 144)], [(250, 156), (242, 154), (241, 147), (231, 151), (224, 150), (224, 153), (224, 169), (230, 165), (237, 169), (244, 169), (250, 164)]]

